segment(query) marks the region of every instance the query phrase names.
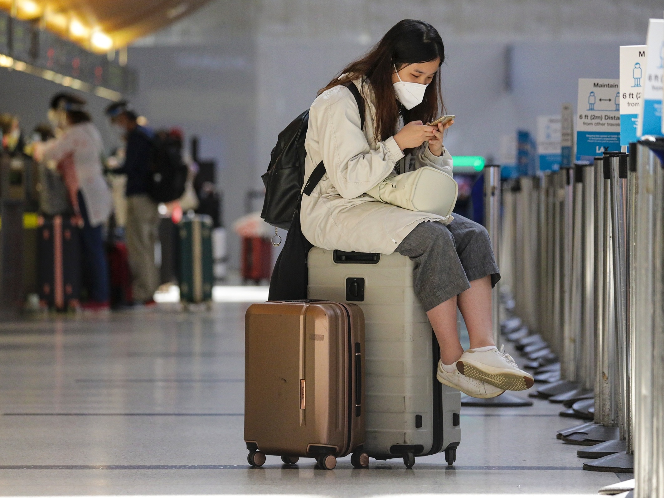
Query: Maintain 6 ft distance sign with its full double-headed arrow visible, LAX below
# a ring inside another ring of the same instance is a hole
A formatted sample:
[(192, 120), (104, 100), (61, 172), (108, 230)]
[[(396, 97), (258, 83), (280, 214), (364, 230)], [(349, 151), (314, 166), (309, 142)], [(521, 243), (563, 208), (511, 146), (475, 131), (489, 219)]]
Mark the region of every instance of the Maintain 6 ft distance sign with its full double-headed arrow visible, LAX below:
[(576, 104), (576, 160), (620, 152), (619, 80), (580, 78)]

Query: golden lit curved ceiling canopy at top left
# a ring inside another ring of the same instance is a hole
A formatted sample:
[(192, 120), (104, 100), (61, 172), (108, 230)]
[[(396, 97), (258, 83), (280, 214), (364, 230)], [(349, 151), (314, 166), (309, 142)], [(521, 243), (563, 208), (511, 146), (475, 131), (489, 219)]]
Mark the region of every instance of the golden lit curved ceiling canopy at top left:
[(107, 52), (186, 17), (208, 1), (0, 0), (0, 9), (85, 48)]

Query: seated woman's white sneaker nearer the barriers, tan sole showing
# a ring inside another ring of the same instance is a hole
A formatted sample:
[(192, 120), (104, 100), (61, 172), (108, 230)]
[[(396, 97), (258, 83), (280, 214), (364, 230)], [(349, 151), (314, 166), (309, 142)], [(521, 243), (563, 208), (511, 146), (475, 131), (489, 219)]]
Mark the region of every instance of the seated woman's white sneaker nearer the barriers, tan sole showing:
[(468, 349), (456, 363), (463, 375), (482, 380), (492, 386), (511, 391), (523, 391), (535, 384), (533, 376), (519, 369), (514, 359), (505, 353), (505, 345), (489, 351)]

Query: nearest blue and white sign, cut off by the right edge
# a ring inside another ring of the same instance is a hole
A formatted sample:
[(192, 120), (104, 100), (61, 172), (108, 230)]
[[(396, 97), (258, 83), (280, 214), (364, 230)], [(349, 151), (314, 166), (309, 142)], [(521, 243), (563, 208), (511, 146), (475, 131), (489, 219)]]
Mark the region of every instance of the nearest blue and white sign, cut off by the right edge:
[(664, 19), (648, 21), (647, 62), (643, 81), (643, 105), (637, 135), (662, 133), (662, 72), (664, 69)]

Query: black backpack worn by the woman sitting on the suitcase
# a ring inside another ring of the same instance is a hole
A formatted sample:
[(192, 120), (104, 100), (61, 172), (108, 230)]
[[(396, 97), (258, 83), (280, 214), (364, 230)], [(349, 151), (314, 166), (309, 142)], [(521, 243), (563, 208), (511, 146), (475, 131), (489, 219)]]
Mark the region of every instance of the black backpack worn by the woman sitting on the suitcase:
[[(355, 97), (355, 102), (360, 110), (361, 127), (364, 128), (365, 100), (353, 82), (345, 86)], [(284, 230), (288, 230), (290, 227), (293, 213), (299, 206), (299, 196), (304, 183), (304, 158), (307, 155), (304, 140), (307, 137), (308, 127), (309, 110), (307, 109), (279, 133), (277, 145), (270, 153), (268, 171), (261, 177), (265, 185), (265, 201), (260, 217), (272, 226), (278, 226)], [(325, 175), (325, 166), (321, 161), (309, 177), (305, 195), (309, 195), (313, 191), (323, 175)]]

